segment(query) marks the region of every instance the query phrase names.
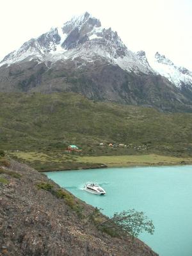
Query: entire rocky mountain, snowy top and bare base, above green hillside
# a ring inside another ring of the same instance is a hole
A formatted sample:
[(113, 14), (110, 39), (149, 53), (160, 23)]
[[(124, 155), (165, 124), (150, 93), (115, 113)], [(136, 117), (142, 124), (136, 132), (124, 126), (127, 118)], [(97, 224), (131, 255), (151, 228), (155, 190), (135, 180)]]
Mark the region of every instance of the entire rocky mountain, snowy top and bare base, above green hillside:
[(132, 52), (88, 12), (25, 42), (0, 63), (1, 92), (76, 92), (95, 100), (187, 109), (192, 73)]

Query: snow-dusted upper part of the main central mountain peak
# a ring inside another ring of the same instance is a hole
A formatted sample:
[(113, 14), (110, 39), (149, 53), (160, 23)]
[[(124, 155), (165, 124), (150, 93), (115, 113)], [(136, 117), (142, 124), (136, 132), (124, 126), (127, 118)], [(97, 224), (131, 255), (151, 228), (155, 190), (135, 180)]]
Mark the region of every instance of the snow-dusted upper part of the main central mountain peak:
[(52, 28), (38, 38), (32, 38), (17, 51), (8, 54), (1, 61), (0, 66), (33, 59), (54, 63), (58, 60), (77, 58), (84, 60), (85, 65), (96, 59), (102, 59), (127, 71), (146, 74), (153, 72), (147, 59), (144, 60), (129, 51), (116, 31), (102, 28), (100, 20), (92, 17), (88, 12), (73, 17), (63, 26)]

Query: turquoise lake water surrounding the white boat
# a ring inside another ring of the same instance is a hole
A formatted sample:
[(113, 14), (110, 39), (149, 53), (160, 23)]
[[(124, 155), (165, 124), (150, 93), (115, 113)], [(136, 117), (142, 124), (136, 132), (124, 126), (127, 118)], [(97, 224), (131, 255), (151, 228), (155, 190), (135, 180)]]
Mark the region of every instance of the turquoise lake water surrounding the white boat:
[[(140, 239), (160, 256), (192, 255), (192, 166), (106, 168), (47, 172), (47, 176), (103, 213), (143, 211), (156, 230)], [(83, 191), (84, 182), (97, 182), (106, 195)]]

